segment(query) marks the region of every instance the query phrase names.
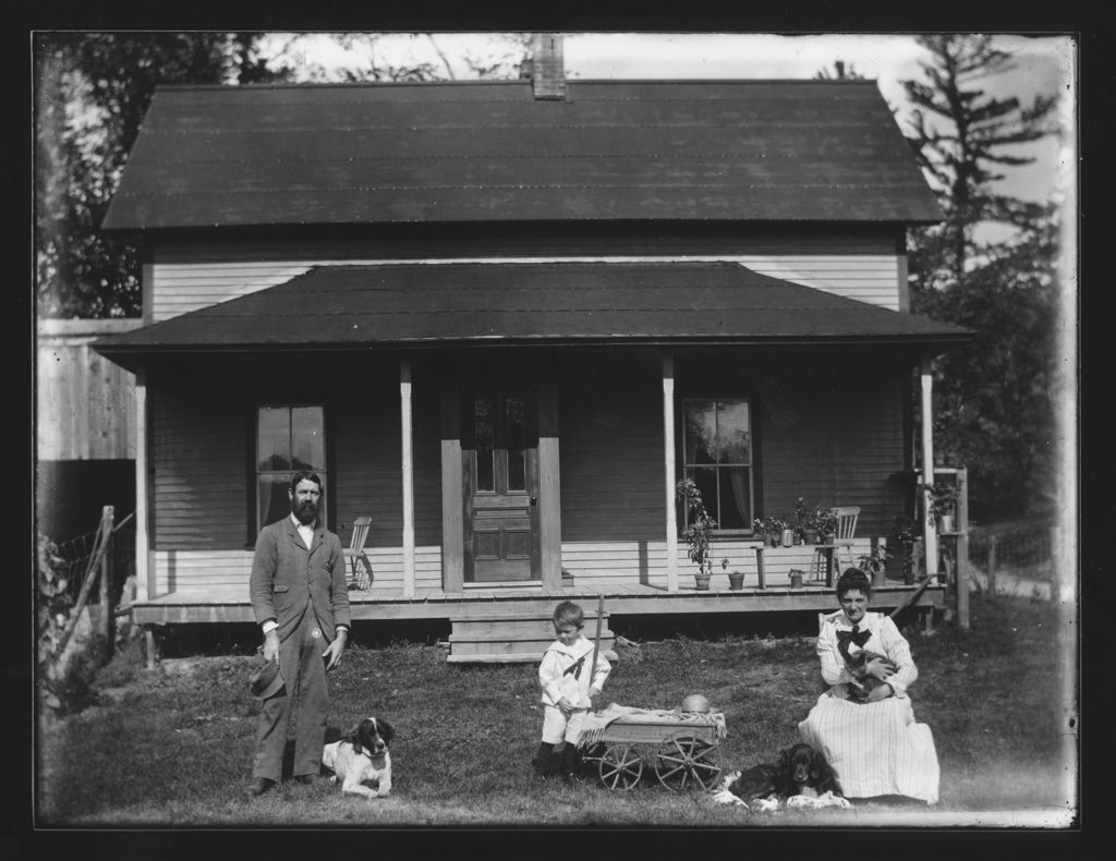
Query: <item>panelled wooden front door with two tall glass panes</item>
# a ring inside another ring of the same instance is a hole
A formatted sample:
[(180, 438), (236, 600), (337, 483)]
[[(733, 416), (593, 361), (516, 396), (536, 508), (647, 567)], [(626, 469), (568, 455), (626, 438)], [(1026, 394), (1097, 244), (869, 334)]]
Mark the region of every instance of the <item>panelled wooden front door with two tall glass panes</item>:
[(462, 401), (465, 583), (540, 578), (536, 409), (514, 390)]

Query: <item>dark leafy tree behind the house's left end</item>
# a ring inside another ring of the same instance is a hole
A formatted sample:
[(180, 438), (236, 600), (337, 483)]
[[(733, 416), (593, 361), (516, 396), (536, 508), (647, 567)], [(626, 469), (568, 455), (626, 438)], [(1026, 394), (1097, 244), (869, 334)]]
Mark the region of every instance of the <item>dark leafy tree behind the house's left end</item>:
[(45, 316), (135, 316), (138, 256), (99, 228), (158, 84), (281, 78), (261, 34), (49, 32), (35, 40), (37, 299)]

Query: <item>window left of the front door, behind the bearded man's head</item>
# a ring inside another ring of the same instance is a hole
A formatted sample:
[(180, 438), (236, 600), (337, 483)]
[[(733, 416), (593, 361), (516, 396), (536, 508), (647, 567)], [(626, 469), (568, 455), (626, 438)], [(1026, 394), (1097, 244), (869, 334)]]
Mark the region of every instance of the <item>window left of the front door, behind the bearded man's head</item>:
[(318, 518), (326, 519), (326, 411), (314, 404), (268, 404), (256, 420), (256, 528), (290, 514), (287, 489), (301, 470), (321, 478)]

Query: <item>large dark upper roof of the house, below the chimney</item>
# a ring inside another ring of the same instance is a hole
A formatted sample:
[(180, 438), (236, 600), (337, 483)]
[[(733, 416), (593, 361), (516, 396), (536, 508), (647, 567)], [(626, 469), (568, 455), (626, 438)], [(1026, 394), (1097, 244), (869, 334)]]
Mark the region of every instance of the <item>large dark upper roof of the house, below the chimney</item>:
[(105, 229), (523, 220), (930, 223), (875, 82), (156, 92)]

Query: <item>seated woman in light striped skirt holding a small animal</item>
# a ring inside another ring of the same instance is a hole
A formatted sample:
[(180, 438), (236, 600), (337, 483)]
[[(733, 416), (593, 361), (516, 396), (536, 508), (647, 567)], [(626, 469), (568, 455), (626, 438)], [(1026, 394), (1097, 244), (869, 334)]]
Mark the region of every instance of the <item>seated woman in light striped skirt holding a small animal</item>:
[[(818, 634), (821, 677), (830, 688), (798, 725), (798, 734), (825, 754), (846, 797), (905, 795), (934, 804), (934, 737), (929, 726), (915, 723), (906, 693), (918, 670), (895, 623), (868, 612), (872, 582), (858, 568), (846, 570), (837, 581), (844, 612), (827, 619)], [(859, 673), (883, 683), (857, 682), (857, 672), (849, 668), (862, 651), (881, 657), (864, 661), (867, 656), (862, 656)]]

